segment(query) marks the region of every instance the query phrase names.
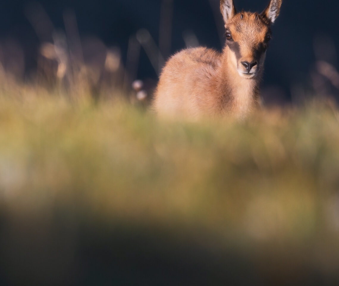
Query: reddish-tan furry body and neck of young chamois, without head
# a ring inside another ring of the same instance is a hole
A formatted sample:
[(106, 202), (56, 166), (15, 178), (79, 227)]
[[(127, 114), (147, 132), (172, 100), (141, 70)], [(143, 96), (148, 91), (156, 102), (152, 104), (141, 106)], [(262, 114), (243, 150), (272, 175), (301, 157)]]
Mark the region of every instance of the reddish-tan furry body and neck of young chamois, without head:
[(241, 78), (228, 66), (225, 52), (198, 47), (177, 53), (161, 74), (156, 110), (190, 118), (245, 116), (257, 104), (259, 82)]

